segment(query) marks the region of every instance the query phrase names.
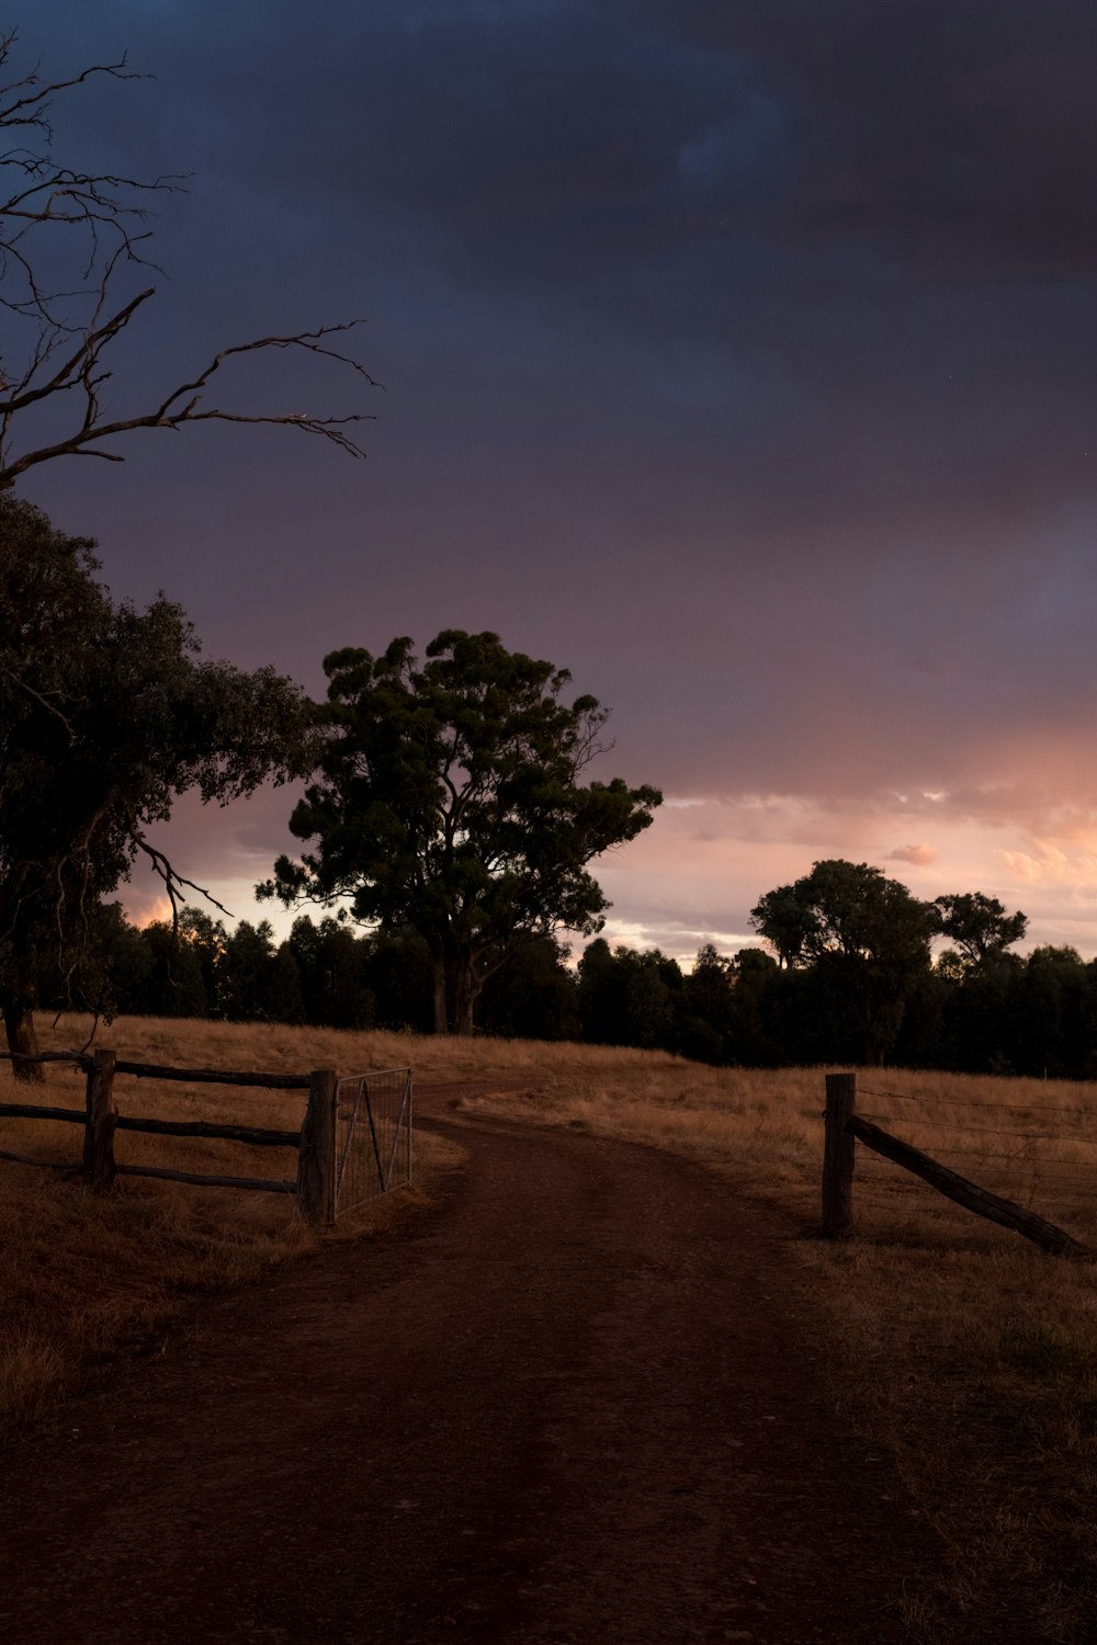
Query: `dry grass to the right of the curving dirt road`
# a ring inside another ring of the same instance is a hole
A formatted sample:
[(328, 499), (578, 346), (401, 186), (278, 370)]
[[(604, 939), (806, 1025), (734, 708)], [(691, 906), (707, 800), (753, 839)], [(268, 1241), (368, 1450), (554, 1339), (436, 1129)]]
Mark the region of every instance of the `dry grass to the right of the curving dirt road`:
[[(437, 1048), (441, 1050), (441, 1046)], [(1097, 1272), (942, 1199), (867, 1148), (857, 1239), (817, 1239), (822, 1069), (709, 1069), (658, 1053), (454, 1043), (454, 1074), (513, 1082), (482, 1110), (683, 1153), (781, 1207), (835, 1403), (896, 1457), (949, 1550), (942, 1594), (980, 1637), (1097, 1637)], [(1097, 1086), (863, 1071), (859, 1109), (1097, 1247)], [(939, 1645), (933, 1599), (914, 1637)]]

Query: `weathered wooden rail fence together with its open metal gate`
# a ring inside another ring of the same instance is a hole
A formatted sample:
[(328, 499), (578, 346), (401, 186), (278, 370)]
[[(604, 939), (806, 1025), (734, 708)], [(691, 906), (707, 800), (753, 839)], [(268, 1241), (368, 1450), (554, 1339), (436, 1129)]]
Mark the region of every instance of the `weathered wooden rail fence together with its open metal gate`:
[[(383, 1069), (357, 1074), (340, 1081), (334, 1069), (314, 1069), (311, 1074), (265, 1074), (215, 1068), (168, 1068), (160, 1063), (133, 1063), (113, 1051), (100, 1050), (90, 1056), (86, 1051), (43, 1051), (38, 1056), (0, 1051), (10, 1063), (71, 1063), (87, 1073), (84, 1107), (62, 1109), (31, 1102), (0, 1102), (0, 1117), (28, 1120), (61, 1120), (84, 1127), (82, 1158), (38, 1160), (28, 1155), (0, 1150), (0, 1158), (21, 1165), (39, 1165), (51, 1170), (81, 1173), (97, 1193), (109, 1193), (117, 1176), (163, 1178), (171, 1183), (192, 1183), (202, 1188), (243, 1188), (257, 1193), (294, 1194), (301, 1214), (312, 1224), (331, 1224), (340, 1211), (350, 1211), (367, 1198), (386, 1193), (390, 1188), (411, 1181), (411, 1069)], [(113, 1102), (115, 1074), (135, 1074), (140, 1079), (186, 1081), (187, 1084), (252, 1086), (271, 1091), (308, 1091), (304, 1119), (298, 1130), (275, 1130), (262, 1125), (222, 1125), (212, 1120), (163, 1120), (143, 1115), (118, 1114)], [(390, 1112), (390, 1104), (375, 1099), (373, 1087), (386, 1094), (398, 1089), (400, 1102)], [(349, 1096), (340, 1102), (340, 1091)], [(350, 1102), (352, 1115), (342, 1109)], [(377, 1101), (377, 1112), (375, 1112)], [(359, 1193), (359, 1155), (367, 1128), (355, 1145), (357, 1117), (368, 1120), (373, 1156), (378, 1166), (377, 1183), (368, 1193)], [(380, 1128), (378, 1128), (380, 1127)], [(260, 1148), (296, 1150), (296, 1175), (293, 1178), (220, 1176), (197, 1171), (174, 1171), (166, 1166), (120, 1165), (113, 1156), (113, 1137), (118, 1130), (148, 1132), (160, 1137), (201, 1137), (247, 1143)], [(383, 1155), (382, 1140), (383, 1138)], [(350, 1175), (347, 1176), (347, 1170)], [(347, 1179), (347, 1191), (342, 1191)]]

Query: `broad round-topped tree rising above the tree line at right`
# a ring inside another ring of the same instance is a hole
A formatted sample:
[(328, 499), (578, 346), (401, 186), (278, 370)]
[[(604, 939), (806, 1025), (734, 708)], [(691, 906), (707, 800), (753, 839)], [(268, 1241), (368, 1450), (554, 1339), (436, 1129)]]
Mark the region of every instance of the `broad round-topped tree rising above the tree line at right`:
[(857, 1054), (880, 1063), (895, 1045), (906, 995), (929, 969), (937, 910), (880, 869), (831, 859), (752, 911), (786, 966), (812, 971), (817, 1008), (857, 1026)]

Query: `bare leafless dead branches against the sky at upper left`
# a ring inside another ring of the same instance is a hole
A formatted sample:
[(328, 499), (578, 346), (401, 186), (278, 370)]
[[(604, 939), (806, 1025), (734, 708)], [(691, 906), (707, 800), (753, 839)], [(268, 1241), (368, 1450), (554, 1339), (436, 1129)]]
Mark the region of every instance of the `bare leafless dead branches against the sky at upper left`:
[[(104, 441), (138, 428), (178, 429), (186, 423), (283, 424), (327, 439), (352, 457), (365, 456), (354, 428), (370, 421), (368, 413), (250, 413), (206, 400), (225, 362), (271, 349), (336, 360), (378, 387), (337, 342), (360, 321), (232, 344), (155, 405), (122, 416), (107, 413), (102, 390), (113, 375), (109, 349), (156, 293), (153, 285), (132, 290), (135, 276), (146, 280), (156, 268), (146, 255), (150, 196), (178, 191), (186, 179), (141, 181), (54, 158), (49, 112), (59, 95), (102, 76), (140, 76), (120, 58), (92, 63), (67, 79), (44, 79), (39, 66), (7, 79), (16, 41), (15, 30), (0, 35), (0, 489), (54, 457), (122, 462), (117, 451), (104, 449)], [(20, 447), (25, 413), (43, 406), (58, 411), (61, 431), (39, 446), (31, 441)]]

